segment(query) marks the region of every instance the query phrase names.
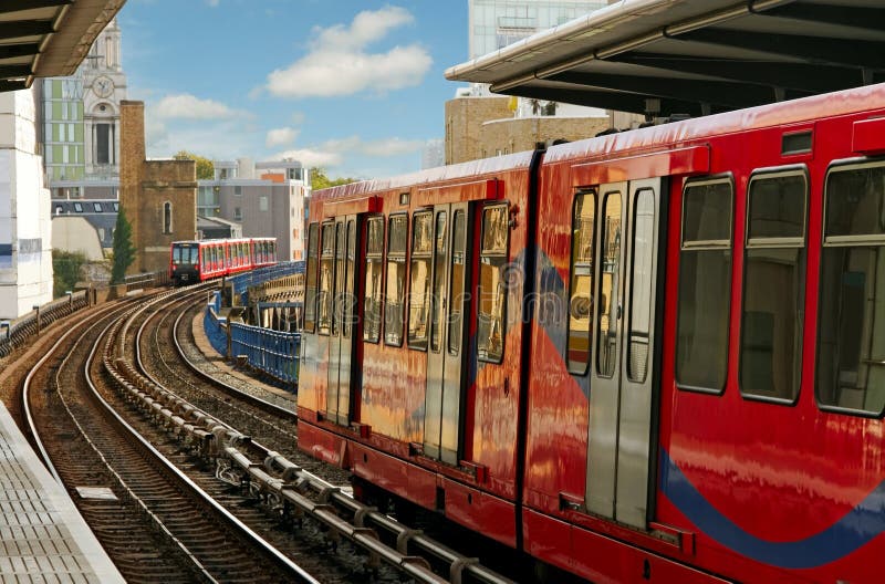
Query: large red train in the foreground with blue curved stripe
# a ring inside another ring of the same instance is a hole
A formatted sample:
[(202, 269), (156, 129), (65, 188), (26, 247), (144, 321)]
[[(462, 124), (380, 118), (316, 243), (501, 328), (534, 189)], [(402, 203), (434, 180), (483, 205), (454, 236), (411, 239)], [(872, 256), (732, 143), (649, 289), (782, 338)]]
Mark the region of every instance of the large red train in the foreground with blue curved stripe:
[(299, 446), (357, 486), (594, 582), (882, 581), (885, 85), (311, 218)]

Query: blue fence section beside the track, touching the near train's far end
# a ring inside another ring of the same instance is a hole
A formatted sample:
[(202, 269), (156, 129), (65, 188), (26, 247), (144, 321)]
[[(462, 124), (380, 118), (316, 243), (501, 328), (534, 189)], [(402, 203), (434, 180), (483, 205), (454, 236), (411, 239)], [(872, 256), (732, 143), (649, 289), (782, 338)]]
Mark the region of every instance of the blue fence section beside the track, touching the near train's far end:
[(298, 383), (300, 345), (300, 333), (281, 333), (261, 326), (230, 324), (231, 354), (246, 355), (249, 365), (287, 384)]

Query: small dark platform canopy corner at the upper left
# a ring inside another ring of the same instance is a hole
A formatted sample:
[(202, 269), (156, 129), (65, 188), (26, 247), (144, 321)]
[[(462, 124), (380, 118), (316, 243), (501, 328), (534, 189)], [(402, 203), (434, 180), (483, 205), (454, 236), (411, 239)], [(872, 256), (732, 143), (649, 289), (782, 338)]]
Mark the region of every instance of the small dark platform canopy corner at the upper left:
[(0, 91), (71, 75), (126, 0), (0, 0)]

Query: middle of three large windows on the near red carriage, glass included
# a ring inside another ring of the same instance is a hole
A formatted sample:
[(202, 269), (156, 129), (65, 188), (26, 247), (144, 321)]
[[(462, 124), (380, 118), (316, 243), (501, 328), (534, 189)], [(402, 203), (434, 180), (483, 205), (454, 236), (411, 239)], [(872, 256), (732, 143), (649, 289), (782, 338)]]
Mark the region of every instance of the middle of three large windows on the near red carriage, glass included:
[(747, 397), (799, 395), (806, 200), (803, 171), (750, 179), (739, 362)]

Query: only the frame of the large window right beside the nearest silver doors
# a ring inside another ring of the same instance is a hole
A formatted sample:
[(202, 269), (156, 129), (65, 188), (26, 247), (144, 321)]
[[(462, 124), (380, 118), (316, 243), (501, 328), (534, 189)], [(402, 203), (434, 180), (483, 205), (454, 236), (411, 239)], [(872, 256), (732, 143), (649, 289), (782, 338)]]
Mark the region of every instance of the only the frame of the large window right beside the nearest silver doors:
[[(699, 187), (704, 185), (717, 185), (717, 184), (727, 184), (731, 189), (731, 213), (729, 217), (729, 230), (728, 234), (729, 238), (727, 240), (701, 240), (697, 242), (689, 242), (688, 244), (685, 243), (685, 194), (690, 187)], [(728, 387), (728, 369), (731, 366), (731, 359), (729, 353), (731, 352), (731, 344), (730, 344), (730, 330), (731, 330), (731, 296), (735, 288), (735, 212), (737, 207), (737, 192), (736, 192), (736, 180), (735, 175), (732, 173), (723, 173), (719, 175), (710, 175), (710, 176), (702, 176), (702, 177), (695, 177), (695, 178), (687, 178), (683, 182), (683, 188), (680, 189), (679, 196), (679, 250), (678, 250), (678, 270), (677, 270), (677, 280), (676, 280), (676, 342), (674, 343), (674, 364), (673, 364), (673, 380), (676, 385), (676, 388), (681, 392), (691, 392), (696, 394), (707, 394), (712, 396), (721, 396), (726, 392), (726, 387)], [(688, 385), (679, 383), (678, 379), (678, 359), (679, 359), (679, 295), (681, 290), (681, 277), (683, 277), (683, 260), (681, 255), (684, 251), (710, 251), (710, 250), (722, 250), (728, 249), (731, 251), (731, 260), (729, 267), (729, 279), (730, 285), (728, 286), (728, 305), (726, 306), (726, 314), (728, 320), (728, 331), (726, 332), (726, 351), (725, 351), (725, 378), (722, 380), (722, 386), (719, 388), (712, 387), (701, 387), (696, 385)]]

